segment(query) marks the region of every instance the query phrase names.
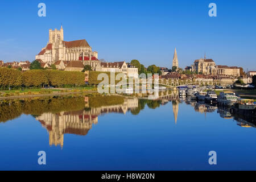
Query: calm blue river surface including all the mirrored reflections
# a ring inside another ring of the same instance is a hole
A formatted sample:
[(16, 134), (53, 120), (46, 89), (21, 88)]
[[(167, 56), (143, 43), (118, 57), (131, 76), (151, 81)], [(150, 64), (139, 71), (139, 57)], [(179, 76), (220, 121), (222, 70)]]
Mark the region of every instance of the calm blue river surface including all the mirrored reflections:
[(255, 170), (255, 140), (253, 123), (176, 97), (0, 101), (1, 170)]

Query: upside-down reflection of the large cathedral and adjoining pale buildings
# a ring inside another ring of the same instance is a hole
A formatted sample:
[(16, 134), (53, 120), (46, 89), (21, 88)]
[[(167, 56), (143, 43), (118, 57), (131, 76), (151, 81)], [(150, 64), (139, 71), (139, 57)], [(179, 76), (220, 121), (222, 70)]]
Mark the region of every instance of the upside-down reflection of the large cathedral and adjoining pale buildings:
[[(86, 98), (85, 98), (86, 100)], [(138, 107), (138, 98), (125, 99), (121, 105), (88, 108), (79, 111), (43, 113), (36, 119), (49, 132), (49, 145), (60, 144), (63, 147), (64, 134), (86, 135), (93, 124), (98, 123), (98, 115), (104, 113), (122, 113)]]

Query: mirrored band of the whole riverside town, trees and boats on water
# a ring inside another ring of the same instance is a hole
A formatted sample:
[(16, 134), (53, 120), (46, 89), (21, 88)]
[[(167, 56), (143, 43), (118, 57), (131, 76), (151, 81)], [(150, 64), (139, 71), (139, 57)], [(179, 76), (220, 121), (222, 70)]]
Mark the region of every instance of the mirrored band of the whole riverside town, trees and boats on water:
[(205, 104), (189, 98), (179, 99), (177, 92), (166, 90), (159, 93), (156, 100), (139, 99), (123, 96), (59, 96), (46, 98), (28, 98), (23, 100), (0, 101), (0, 122), (30, 114), (46, 128), (49, 145), (64, 145), (64, 134), (86, 135), (93, 124), (98, 123), (98, 116), (109, 113), (137, 115), (147, 105), (156, 109), (161, 105), (172, 104), (174, 121), (177, 124), (179, 105), (185, 103), (201, 114), (216, 112), (221, 118), (234, 119), (238, 126), (255, 127), (254, 121), (240, 115), (232, 115), (229, 108)]

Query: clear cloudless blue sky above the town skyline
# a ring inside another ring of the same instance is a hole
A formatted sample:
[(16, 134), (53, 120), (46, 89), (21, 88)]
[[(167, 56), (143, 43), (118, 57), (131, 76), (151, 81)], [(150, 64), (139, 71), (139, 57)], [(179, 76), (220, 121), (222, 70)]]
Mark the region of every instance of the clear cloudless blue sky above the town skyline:
[[(38, 4), (46, 3), (46, 17)], [(217, 5), (217, 17), (208, 5)], [(256, 71), (256, 1), (0, 1), (0, 60), (34, 60), (48, 30), (64, 28), (64, 40), (86, 39), (99, 59), (138, 59), (146, 67), (179, 67), (195, 59)]]

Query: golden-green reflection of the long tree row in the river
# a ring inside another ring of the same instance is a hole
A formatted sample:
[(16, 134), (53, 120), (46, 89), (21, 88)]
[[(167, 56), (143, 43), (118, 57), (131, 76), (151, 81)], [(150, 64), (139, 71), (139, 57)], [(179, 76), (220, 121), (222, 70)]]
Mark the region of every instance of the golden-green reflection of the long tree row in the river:
[[(120, 96), (90, 96), (91, 107), (123, 104)], [(85, 108), (83, 96), (55, 96), (43, 98), (27, 98), (23, 100), (0, 101), (0, 122), (19, 117), (21, 114), (34, 116), (43, 113), (60, 113), (61, 111), (76, 111)]]

